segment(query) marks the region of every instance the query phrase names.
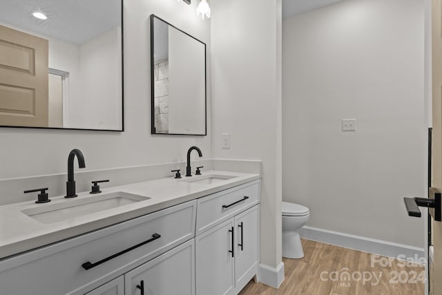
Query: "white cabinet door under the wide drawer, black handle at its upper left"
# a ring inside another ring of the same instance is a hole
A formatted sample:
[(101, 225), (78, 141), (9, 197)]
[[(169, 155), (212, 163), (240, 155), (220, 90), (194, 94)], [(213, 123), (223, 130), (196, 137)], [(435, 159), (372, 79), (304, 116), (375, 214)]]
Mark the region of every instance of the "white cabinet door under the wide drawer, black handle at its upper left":
[(194, 295), (195, 241), (184, 244), (124, 274), (126, 295)]

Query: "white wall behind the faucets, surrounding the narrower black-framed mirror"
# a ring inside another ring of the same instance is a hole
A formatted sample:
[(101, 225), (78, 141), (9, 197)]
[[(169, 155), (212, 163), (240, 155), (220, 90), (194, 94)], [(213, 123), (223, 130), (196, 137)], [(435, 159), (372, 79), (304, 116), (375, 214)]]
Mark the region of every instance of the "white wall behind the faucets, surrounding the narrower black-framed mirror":
[[(68, 153), (73, 148), (83, 151), (87, 170), (183, 161), (186, 159), (187, 149), (194, 144), (202, 149), (204, 158), (211, 157), (210, 135), (198, 137), (150, 134), (148, 17), (155, 13), (206, 44), (210, 44), (210, 21), (201, 21), (195, 16), (195, 1), (192, 6), (176, 0), (124, 2), (126, 131), (119, 133), (2, 128), (0, 179), (66, 173)], [(208, 99), (210, 101), (210, 97)], [(210, 130), (210, 112), (208, 116)]]

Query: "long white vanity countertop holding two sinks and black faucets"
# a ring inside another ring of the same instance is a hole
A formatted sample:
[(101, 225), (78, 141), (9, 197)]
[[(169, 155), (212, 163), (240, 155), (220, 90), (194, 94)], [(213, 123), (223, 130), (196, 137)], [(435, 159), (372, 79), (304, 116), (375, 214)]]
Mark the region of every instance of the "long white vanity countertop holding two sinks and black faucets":
[(201, 176), (194, 175), (192, 180), (209, 174), (232, 175), (235, 177), (213, 184), (187, 182), (186, 180), (189, 180), (189, 178), (185, 177), (182, 179), (163, 178), (102, 189), (101, 194), (122, 191), (149, 197), (150, 199), (50, 224), (38, 222), (21, 211), (35, 207), (44, 207), (46, 204), (70, 202), (71, 200), (80, 200), (81, 198), (93, 198), (97, 195), (84, 192), (78, 193), (78, 197), (75, 199), (66, 199), (63, 196), (59, 196), (55, 198), (50, 197), (51, 202), (44, 204), (35, 204), (32, 201), (1, 206), (0, 258), (49, 245), (52, 242), (72, 238), (73, 236), (85, 234), (102, 227), (115, 225), (118, 222), (143, 216), (260, 178), (259, 174), (205, 171)]

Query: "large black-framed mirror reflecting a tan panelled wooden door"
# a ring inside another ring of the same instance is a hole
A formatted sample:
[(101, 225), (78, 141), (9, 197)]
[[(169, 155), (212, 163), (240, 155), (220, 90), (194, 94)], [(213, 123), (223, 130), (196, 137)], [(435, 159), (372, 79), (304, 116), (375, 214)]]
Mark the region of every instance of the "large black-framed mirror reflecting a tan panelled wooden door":
[(124, 131), (123, 0), (2, 0), (0, 126)]

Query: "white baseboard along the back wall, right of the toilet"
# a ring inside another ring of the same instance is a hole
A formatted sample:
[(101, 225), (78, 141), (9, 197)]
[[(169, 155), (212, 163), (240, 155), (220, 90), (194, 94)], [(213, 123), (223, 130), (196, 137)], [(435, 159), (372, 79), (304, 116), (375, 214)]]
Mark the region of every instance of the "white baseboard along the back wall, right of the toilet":
[(315, 240), (316, 242), (324, 242), (330, 245), (364, 251), (372, 254), (392, 258), (407, 257), (425, 257), (425, 249), (419, 247), (412, 247), (394, 242), (387, 242), (385, 240), (376, 240), (374, 238), (365, 238), (363, 236), (354, 236), (350, 234), (343, 234), (337, 231), (329, 231), (327, 229), (318, 229), (317, 227), (302, 227), (299, 230), (301, 238), (307, 240)]

